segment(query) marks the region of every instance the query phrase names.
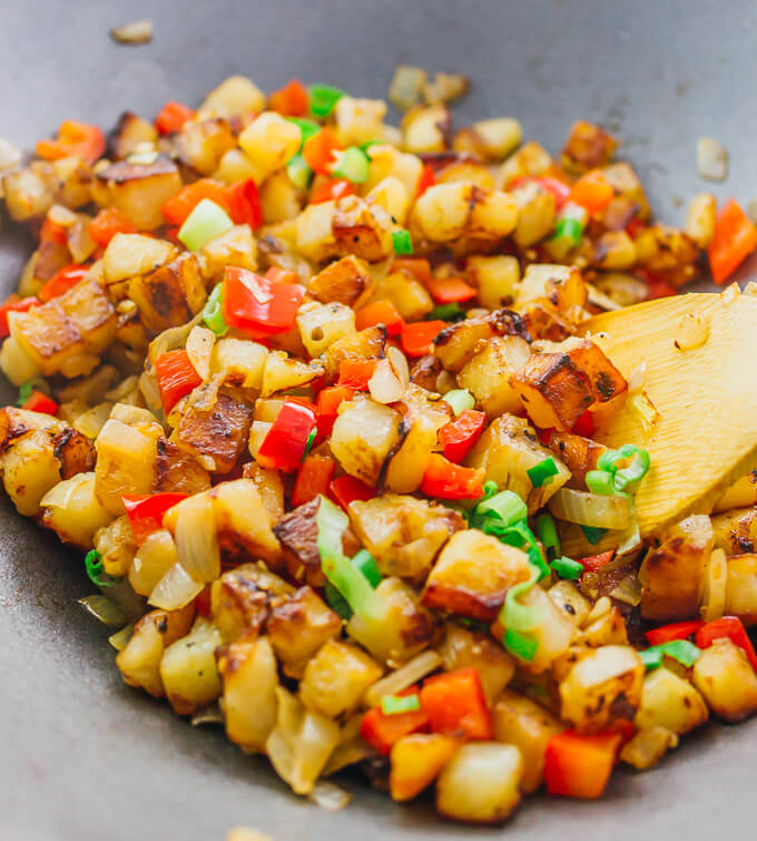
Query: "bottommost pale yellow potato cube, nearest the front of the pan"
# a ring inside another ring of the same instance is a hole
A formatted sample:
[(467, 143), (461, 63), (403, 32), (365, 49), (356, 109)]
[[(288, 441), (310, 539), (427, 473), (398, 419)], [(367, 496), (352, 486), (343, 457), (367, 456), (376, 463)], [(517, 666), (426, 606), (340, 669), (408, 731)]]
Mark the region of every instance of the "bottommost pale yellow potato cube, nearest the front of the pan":
[(445, 818), (498, 823), (520, 803), (523, 757), (514, 745), (463, 745), (436, 781), (436, 809)]

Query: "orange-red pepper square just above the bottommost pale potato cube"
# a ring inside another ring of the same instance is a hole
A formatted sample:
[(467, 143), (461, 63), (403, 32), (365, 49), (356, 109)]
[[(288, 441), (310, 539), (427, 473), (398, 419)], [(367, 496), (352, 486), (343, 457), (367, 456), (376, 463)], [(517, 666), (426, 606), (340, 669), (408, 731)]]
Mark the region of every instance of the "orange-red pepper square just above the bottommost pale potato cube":
[(421, 690), (421, 706), (433, 733), (484, 742), (494, 737), (491, 712), (475, 668), (429, 677)]

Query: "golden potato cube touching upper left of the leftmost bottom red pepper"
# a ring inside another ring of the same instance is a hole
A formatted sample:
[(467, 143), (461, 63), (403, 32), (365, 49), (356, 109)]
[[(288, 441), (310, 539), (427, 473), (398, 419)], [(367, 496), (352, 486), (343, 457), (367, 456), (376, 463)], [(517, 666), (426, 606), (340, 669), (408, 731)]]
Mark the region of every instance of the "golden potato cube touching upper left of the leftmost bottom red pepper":
[(305, 667), (299, 698), (328, 718), (348, 715), (382, 673), (373, 657), (357, 646), (330, 639)]

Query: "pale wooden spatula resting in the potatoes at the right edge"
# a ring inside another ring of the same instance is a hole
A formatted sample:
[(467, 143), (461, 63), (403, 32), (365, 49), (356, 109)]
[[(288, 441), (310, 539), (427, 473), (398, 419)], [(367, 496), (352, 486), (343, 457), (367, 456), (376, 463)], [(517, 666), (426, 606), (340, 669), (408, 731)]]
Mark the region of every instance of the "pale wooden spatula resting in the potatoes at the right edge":
[[(643, 447), (651, 467), (636, 505), (649, 537), (689, 514), (709, 514), (733, 482), (757, 467), (757, 297), (729, 287), (650, 301), (581, 325), (628, 379), (646, 365), (643, 391), (597, 412), (608, 447)], [(650, 401), (650, 402), (649, 402)], [(578, 529), (566, 551), (601, 551)], [(611, 545), (611, 542), (610, 542)]]

